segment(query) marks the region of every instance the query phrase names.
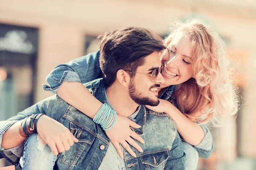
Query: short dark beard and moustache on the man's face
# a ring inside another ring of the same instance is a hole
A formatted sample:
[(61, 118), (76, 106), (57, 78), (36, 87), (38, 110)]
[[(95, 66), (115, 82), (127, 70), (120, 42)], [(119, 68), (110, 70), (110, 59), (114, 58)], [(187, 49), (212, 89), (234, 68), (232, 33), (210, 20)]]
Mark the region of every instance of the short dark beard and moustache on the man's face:
[[(160, 87), (160, 85), (154, 85), (151, 88), (154, 87)], [(136, 85), (133, 80), (131, 80), (131, 83), (129, 84), (129, 95), (131, 99), (133, 99), (133, 101), (136, 102), (138, 105), (157, 106), (160, 103), (159, 99), (151, 99), (150, 97), (145, 96), (141, 92), (139, 92), (136, 89)]]

